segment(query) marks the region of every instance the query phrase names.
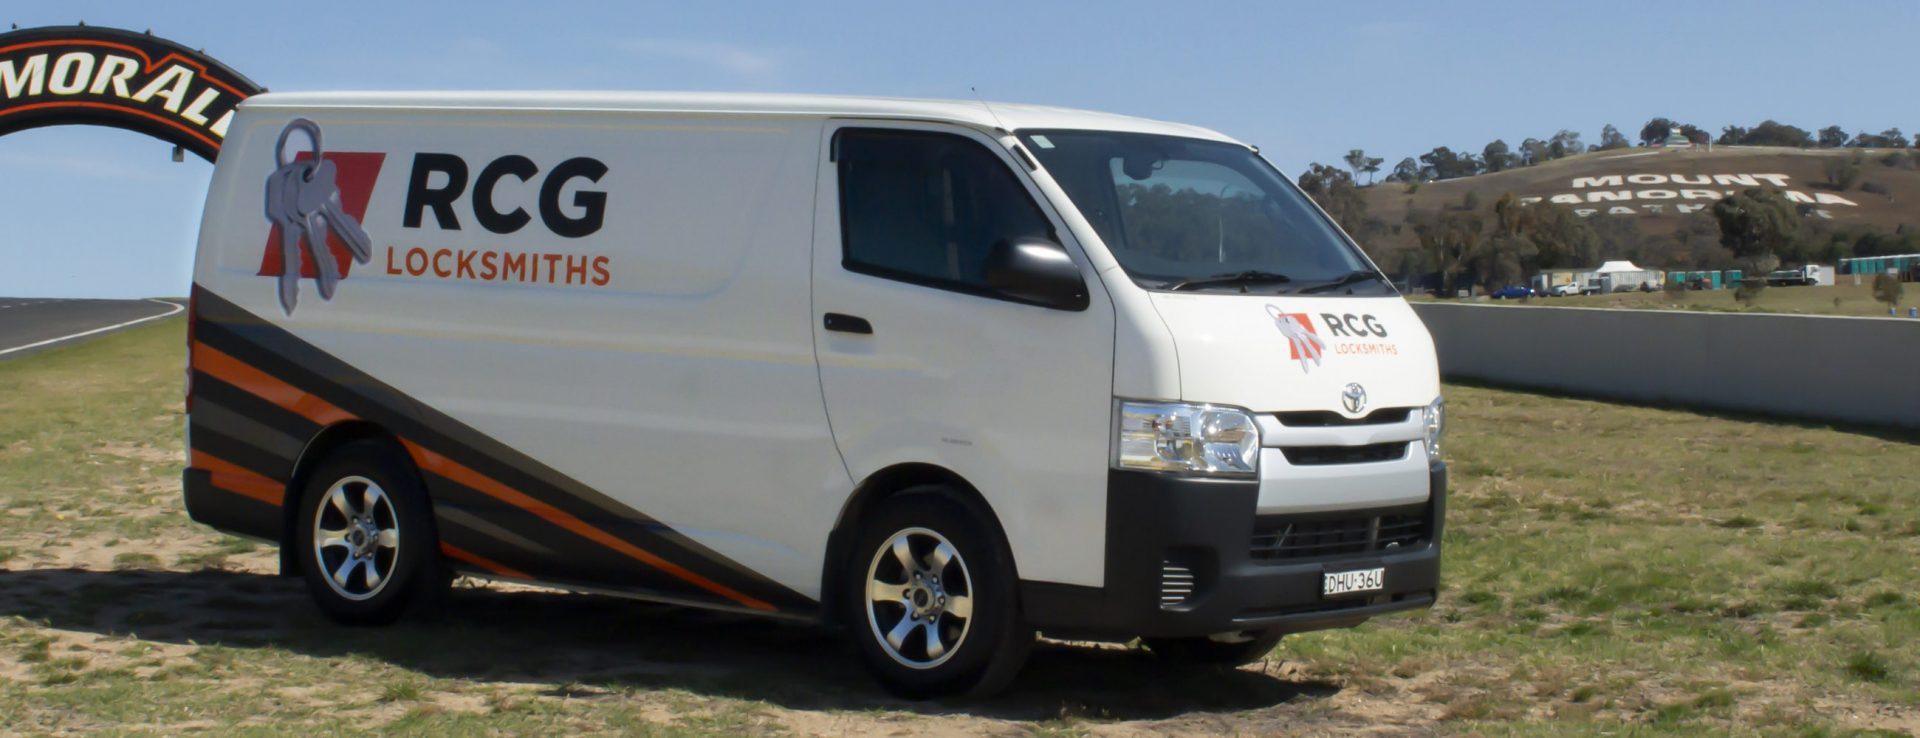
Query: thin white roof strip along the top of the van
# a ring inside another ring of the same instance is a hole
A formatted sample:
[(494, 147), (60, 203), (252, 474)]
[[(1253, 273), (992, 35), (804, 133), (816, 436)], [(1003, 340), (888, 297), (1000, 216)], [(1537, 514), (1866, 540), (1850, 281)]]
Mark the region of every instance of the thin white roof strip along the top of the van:
[(1233, 138), (1198, 125), (1152, 121), (1144, 117), (1098, 113), (1091, 110), (993, 102), (991, 111), (977, 100), (864, 98), (831, 94), (749, 94), (749, 92), (267, 92), (242, 108), (315, 110), (574, 110), (574, 111), (659, 111), (659, 113), (739, 113), (806, 117), (883, 117), (958, 123), (983, 131), (1006, 127), (1092, 129), (1158, 133), (1187, 138)]

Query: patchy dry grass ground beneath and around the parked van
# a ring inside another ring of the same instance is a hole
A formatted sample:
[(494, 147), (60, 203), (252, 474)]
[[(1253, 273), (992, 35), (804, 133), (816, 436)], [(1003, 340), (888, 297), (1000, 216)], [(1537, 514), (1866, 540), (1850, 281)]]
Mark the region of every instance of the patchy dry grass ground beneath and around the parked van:
[(605, 598), (328, 625), (180, 511), (180, 321), (0, 361), (0, 732), (1920, 730), (1916, 438), (1450, 386), (1432, 611), (1240, 671), (1048, 646), (1004, 698), (904, 703), (828, 634)]

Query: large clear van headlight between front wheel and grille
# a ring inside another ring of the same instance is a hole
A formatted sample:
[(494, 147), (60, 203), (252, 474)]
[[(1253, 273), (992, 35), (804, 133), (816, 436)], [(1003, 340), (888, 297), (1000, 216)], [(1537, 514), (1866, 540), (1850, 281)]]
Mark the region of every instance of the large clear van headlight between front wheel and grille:
[(1185, 402), (1121, 402), (1119, 469), (1252, 477), (1260, 471), (1260, 425), (1254, 415)]

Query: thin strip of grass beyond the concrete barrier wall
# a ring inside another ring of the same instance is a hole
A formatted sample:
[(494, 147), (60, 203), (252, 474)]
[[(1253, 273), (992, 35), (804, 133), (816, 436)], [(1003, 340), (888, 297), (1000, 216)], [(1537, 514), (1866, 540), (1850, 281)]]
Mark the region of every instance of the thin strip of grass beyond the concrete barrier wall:
[[(1434, 300), (1425, 294), (1407, 300)], [(1768, 286), (1753, 304), (1734, 300), (1734, 290), (1688, 290), (1688, 292), (1615, 292), (1586, 294), (1567, 298), (1532, 300), (1492, 300), (1511, 306), (1546, 308), (1624, 308), (1624, 309), (1709, 309), (1728, 313), (1795, 313), (1795, 315), (1859, 315), (1887, 317), (1887, 304), (1874, 300), (1872, 283), (1853, 284), (1853, 277), (1841, 277), (1834, 286)], [(1920, 308), (1920, 284), (1907, 284), (1901, 298), (1899, 317), (1907, 319), (1907, 308)]]

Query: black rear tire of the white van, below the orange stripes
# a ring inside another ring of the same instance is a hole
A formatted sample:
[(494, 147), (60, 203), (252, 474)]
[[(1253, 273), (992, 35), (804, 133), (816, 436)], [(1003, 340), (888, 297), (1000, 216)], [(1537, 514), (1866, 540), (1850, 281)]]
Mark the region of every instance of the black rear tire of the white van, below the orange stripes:
[[(344, 507), (330, 504), (336, 486), (346, 498)], [(376, 500), (380, 496), (384, 505)], [(413, 459), (392, 444), (355, 440), (334, 448), (307, 475), (298, 504), (294, 557), (307, 592), (326, 617), (342, 625), (388, 625), (428, 611), (445, 596), (451, 577), (440, 557), (432, 502)], [(349, 509), (365, 515), (348, 515)], [(369, 536), (369, 529), (355, 519), (369, 521), (371, 530), (392, 529), (396, 540), (388, 546), (380, 534)], [(326, 536), (344, 542), (317, 548), (315, 523), (346, 532)], [(363, 563), (344, 567), (361, 552), (367, 552)], [(336, 571), (346, 571), (346, 584), (330, 577)], [(378, 582), (372, 582), (376, 571)]]

